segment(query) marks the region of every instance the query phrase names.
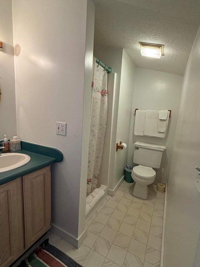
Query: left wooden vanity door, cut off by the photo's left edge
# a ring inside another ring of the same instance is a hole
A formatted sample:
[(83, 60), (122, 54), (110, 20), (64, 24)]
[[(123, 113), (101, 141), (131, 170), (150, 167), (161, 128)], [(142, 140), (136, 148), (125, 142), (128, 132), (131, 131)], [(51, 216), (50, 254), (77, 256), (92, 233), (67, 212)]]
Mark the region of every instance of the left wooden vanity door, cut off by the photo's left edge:
[(16, 180), (0, 186), (0, 267), (9, 266), (18, 256)]

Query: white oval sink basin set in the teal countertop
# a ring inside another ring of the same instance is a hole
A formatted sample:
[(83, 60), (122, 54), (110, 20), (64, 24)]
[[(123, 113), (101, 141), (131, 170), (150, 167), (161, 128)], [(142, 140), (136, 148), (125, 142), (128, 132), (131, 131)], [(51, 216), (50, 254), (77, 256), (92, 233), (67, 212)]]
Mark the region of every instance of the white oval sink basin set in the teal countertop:
[(31, 157), (20, 153), (4, 153), (0, 156), (0, 173), (8, 172), (27, 164)]

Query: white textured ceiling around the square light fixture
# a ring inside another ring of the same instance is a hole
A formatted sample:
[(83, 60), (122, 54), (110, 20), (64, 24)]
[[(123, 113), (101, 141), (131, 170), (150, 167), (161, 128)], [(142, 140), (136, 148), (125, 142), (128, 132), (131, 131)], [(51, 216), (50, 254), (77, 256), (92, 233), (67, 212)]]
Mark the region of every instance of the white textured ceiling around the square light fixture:
[[(93, 2), (95, 44), (124, 48), (137, 67), (183, 75), (200, 22), (199, 0)], [(143, 57), (139, 42), (164, 44), (164, 56)]]

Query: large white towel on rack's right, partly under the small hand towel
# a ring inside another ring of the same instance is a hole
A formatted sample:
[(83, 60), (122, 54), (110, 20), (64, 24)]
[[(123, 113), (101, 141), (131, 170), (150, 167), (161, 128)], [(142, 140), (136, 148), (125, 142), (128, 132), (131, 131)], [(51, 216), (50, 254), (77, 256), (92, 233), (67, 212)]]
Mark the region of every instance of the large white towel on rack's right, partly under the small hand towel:
[[(156, 137), (161, 137), (161, 138), (165, 137), (167, 131), (158, 132), (158, 113), (159, 113), (158, 110), (147, 110), (146, 111), (144, 127), (143, 127), (144, 135), (156, 136)], [(166, 129), (167, 129), (167, 126), (168, 126), (168, 120), (167, 120)]]

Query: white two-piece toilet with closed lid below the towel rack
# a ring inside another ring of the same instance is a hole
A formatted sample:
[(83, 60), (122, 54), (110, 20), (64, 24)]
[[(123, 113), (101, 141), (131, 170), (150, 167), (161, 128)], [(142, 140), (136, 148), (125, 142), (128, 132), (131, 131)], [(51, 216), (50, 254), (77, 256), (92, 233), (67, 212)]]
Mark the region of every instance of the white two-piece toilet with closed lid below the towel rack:
[(166, 146), (136, 142), (134, 144), (133, 162), (138, 166), (133, 167), (131, 177), (135, 181), (133, 196), (147, 199), (148, 185), (155, 181), (156, 172), (159, 169)]

